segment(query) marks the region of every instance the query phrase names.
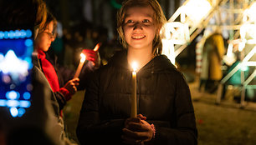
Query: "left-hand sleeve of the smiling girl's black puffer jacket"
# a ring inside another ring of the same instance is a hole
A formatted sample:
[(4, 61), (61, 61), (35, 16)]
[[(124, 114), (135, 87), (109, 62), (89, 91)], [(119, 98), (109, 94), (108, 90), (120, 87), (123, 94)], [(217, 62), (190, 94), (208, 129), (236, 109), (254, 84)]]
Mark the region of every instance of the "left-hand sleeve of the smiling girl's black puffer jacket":
[[(124, 126), (124, 119), (101, 120), (100, 118), (100, 77), (90, 79), (79, 115), (77, 137), (81, 144), (118, 144)], [(116, 143), (115, 143), (116, 142)]]

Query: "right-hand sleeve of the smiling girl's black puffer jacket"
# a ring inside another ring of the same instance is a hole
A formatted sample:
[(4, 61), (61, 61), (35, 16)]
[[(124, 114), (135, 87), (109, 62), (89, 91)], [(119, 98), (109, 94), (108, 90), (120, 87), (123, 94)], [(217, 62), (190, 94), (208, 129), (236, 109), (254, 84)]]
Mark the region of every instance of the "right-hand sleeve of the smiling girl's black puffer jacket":
[(176, 113), (171, 117), (171, 126), (167, 127), (161, 122), (152, 121), (156, 127), (156, 137), (151, 143), (168, 145), (197, 144), (197, 127), (191, 94), (187, 82), (182, 76), (176, 81), (174, 110)]

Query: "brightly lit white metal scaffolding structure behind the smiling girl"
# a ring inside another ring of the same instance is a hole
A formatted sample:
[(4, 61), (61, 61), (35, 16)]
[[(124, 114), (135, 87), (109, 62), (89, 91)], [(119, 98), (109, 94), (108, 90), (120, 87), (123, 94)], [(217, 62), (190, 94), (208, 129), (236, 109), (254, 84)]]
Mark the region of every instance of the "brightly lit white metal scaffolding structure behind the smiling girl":
[[(166, 40), (171, 42), (169, 46), (172, 46), (171, 48), (166, 47), (166, 49), (173, 49), (173, 51), (163, 50), (163, 52), (169, 58), (173, 57), (171, 53), (174, 52), (175, 56), (171, 59), (175, 59), (205, 28), (218, 27), (228, 31), (228, 49), (231, 49), (228, 52), (231, 54), (235, 51), (238, 52), (241, 62), (219, 83), (216, 98), (218, 104), (221, 102), (223, 85), (241, 67), (247, 66), (252, 70), (246, 78), (244, 72), (241, 71), (241, 107), (245, 105), (246, 88), (256, 89), (256, 85), (253, 84), (253, 79), (256, 76), (256, 17), (252, 14), (256, 13), (255, 9), (256, 2), (254, 0), (187, 0), (163, 28), (166, 36), (163, 39), (163, 49), (166, 46), (164, 45)], [(199, 12), (196, 13), (195, 11), (198, 10)], [(253, 10), (254, 12), (252, 12)], [(201, 15), (201, 18), (194, 18), (193, 14)], [(254, 32), (253, 36), (249, 36), (252, 32)], [(230, 55), (227, 54), (226, 57), (230, 57)]]

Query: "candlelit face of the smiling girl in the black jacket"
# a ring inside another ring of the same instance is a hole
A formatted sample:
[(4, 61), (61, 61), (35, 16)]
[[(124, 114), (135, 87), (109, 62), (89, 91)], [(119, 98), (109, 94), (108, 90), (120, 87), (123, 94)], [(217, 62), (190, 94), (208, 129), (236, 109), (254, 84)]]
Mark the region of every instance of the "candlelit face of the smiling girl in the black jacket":
[(156, 35), (154, 11), (150, 6), (130, 7), (123, 26), (128, 48), (151, 49)]

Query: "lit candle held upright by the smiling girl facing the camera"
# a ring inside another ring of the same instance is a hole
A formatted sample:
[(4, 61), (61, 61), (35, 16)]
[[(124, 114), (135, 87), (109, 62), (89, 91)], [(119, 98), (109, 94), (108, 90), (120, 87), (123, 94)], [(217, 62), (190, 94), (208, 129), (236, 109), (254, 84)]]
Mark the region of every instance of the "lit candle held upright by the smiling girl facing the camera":
[(131, 117), (137, 117), (137, 94), (136, 94), (136, 62), (132, 64), (132, 78), (131, 78)]

